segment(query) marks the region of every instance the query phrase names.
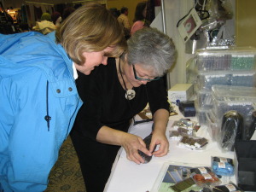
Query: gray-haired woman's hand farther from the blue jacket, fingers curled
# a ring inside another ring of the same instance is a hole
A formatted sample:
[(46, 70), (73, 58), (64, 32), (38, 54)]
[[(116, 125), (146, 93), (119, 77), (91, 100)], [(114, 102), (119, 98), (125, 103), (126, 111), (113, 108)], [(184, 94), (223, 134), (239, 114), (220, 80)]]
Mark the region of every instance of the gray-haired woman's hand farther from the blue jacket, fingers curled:
[(151, 139), (149, 151), (152, 152), (155, 145), (160, 145), (160, 148), (157, 151), (154, 151), (153, 155), (156, 157), (162, 157), (168, 153), (169, 142), (166, 138), (166, 134), (160, 131), (154, 131)]

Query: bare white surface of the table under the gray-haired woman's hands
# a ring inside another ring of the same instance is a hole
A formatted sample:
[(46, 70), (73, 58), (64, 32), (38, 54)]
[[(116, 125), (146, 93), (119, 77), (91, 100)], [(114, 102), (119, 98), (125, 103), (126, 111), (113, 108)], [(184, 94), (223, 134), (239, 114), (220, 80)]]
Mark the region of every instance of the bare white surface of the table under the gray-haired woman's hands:
[[(176, 110), (178, 112), (178, 110)], [(153, 157), (148, 164), (137, 165), (126, 159), (125, 149), (120, 148), (119, 154), (113, 164), (111, 176), (108, 178), (104, 192), (146, 192), (153, 188), (160, 169), (166, 162), (181, 162), (210, 166), (211, 156), (234, 158), (234, 152), (223, 153), (218, 148), (218, 143), (212, 142), (206, 127), (201, 127), (197, 136), (207, 137), (210, 142), (203, 151), (189, 150), (177, 147), (177, 141), (169, 138), (169, 131), (175, 120), (183, 118), (183, 115), (171, 116), (166, 129), (166, 137), (170, 142), (170, 152), (164, 157)], [(195, 120), (192, 118), (191, 120)], [(151, 131), (152, 122), (131, 125), (129, 132), (140, 137), (146, 137)]]

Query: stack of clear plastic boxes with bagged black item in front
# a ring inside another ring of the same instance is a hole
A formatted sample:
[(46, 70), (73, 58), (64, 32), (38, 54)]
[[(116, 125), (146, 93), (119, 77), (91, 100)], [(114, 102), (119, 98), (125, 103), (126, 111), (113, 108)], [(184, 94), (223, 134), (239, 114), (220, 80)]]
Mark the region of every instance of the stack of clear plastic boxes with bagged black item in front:
[[(252, 136), (256, 109), (256, 49), (198, 49), (195, 110), (201, 125), (225, 151)], [(224, 131), (224, 132), (223, 132)]]

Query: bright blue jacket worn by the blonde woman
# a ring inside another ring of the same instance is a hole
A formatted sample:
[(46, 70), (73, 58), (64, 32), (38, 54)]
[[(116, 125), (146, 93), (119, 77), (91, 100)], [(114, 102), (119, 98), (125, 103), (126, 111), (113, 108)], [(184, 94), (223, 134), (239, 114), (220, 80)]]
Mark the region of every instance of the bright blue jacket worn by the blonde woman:
[(44, 191), (82, 102), (54, 34), (0, 34), (0, 189)]

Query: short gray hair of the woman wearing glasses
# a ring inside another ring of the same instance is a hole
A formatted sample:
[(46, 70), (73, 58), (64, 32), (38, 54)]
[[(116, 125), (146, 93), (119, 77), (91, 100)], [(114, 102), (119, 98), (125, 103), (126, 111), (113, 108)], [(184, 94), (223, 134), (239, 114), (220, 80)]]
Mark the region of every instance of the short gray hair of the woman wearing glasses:
[(144, 27), (135, 32), (127, 41), (126, 51), (129, 65), (142, 65), (153, 71), (157, 77), (163, 76), (176, 59), (176, 49), (169, 38), (156, 28)]

